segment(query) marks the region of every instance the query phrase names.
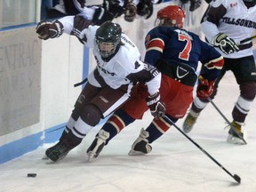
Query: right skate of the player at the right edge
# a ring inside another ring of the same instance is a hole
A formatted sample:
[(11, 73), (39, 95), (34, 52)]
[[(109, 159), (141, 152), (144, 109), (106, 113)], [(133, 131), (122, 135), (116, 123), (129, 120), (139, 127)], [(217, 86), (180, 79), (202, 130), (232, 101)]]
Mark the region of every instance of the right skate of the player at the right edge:
[(236, 132), (230, 128), (228, 131), (227, 141), (233, 144), (244, 144), (244, 140), (240, 139), (244, 139), (244, 133), (242, 132), (241, 124), (238, 124), (236, 121), (231, 122), (231, 124), (235, 128)]

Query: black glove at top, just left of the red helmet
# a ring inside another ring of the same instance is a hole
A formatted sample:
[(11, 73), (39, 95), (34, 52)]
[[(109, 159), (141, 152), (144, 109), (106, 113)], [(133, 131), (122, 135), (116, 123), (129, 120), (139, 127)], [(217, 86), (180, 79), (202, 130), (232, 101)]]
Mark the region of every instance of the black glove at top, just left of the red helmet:
[(143, 16), (146, 20), (153, 14), (153, 9), (151, 0), (140, 0), (140, 3), (137, 4), (137, 13), (140, 16)]

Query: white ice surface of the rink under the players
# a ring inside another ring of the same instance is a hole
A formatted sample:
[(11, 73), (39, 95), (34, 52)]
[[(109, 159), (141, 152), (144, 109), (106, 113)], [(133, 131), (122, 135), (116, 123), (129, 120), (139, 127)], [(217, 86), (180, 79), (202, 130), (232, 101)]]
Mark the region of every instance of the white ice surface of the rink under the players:
[[(214, 103), (231, 120), (231, 110), (239, 89), (228, 73), (220, 83), (220, 92)], [(236, 183), (227, 172), (172, 127), (153, 144), (147, 156), (128, 156), (132, 142), (147, 127), (151, 116), (124, 129), (103, 148), (100, 156), (87, 162), (86, 149), (100, 127), (95, 127), (82, 144), (73, 149), (57, 164), (45, 164), (41, 158), (45, 144), (11, 162), (0, 164), (1, 192), (255, 192), (256, 191), (256, 103), (247, 116), (245, 129), (248, 145), (226, 142), (228, 129), (225, 120), (209, 104), (188, 136), (215, 158), (232, 175), (240, 176)], [(180, 126), (183, 119), (178, 121)], [(28, 178), (28, 173), (36, 178)]]

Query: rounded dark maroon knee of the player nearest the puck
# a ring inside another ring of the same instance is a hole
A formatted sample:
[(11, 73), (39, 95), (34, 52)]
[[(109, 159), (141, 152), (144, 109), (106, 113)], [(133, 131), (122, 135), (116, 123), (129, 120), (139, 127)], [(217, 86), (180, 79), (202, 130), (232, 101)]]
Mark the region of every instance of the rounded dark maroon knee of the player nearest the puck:
[(95, 126), (99, 124), (102, 114), (99, 108), (92, 104), (89, 104), (84, 108), (80, 116), (86, 124)]

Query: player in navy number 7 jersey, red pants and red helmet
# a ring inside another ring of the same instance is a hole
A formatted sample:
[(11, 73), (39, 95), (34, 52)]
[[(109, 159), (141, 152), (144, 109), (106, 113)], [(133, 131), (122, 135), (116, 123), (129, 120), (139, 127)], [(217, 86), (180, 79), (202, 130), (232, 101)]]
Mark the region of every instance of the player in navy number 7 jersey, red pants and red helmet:
[[(184, 18), (185, 13), (179, 6), (164, 7), (157, 12), (156, 28), (151, 29), (145, 38), (145, 61), (162, 72), (161, 98), (166, 108), (165, 116), (173, 122), (185, 116), (193, 100), (198, 61), (203, 64), (196, 91), (200, 98), (207, 98), (212, 94), (212, 86), (223, 65), (219, 52), (201, 41), (196, 34), (183, 29)], [(125, 126), (142, 118), (148, 110), (144, 100), (146, 90), (143, 85), (139, 85), (132, 99), (116, 110), (103, 125), (87, 150), (89, 160), (99, 156), (104, 145)], [(171, 124), (161, 115), (156, 116), (146, 130), (141, 129), (129, 155), (148, 154), (152, 150), (148, 143), (157, 140), (170, 128)]]

